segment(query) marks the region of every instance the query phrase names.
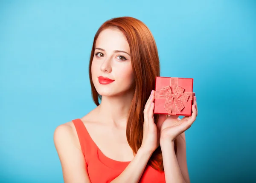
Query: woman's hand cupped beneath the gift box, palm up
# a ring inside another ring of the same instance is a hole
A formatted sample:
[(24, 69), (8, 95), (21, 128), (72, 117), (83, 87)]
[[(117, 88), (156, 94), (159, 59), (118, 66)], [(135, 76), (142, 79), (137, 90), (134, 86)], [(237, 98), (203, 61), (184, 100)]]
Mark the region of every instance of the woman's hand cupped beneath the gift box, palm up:
[(178, 135), (191, 127), (198, 115), (198, 107), (195, 99), (194, 96), (191, 116), (184, 116), (182, 119), (178, 118), (179, 116), (177, 115), (170, 115), (169, 117), (167, 115), (159, 116), (157, 128), (160, 130), (160, 141), (174, 142)]

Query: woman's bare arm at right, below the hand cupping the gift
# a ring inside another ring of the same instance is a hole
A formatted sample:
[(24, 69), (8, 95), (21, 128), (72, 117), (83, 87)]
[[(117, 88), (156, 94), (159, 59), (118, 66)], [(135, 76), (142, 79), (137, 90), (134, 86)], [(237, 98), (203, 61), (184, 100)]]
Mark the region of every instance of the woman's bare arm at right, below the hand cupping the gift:
[(177, 155), (175, 155), (173, 142), (160, 141), (160, 146), (163, 154), (166, 183), (190, 183), (186, 163), (185, 132), (177, 137)]

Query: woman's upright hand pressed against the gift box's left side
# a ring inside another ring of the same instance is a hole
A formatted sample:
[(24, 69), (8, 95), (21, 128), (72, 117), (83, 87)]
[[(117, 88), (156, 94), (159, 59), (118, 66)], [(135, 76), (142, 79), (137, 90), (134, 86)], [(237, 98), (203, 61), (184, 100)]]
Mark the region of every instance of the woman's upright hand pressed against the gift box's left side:
[(160, 131), (154, 122), (154, 90), (144, 107), (143, 140), (140, 149), (153, 153), (159, 146)]

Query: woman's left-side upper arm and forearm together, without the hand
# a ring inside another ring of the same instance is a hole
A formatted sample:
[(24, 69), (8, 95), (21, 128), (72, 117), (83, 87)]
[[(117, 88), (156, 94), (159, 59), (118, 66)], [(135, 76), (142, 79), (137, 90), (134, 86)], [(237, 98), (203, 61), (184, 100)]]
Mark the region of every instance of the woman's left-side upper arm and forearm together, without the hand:
[[(54, 144), (61, 161), (65, 183), (90, 183), (87, 166), (72, 127), (61, 124), (54, 132)], [(140, 148), (125, 170), (111, 183), (138, 183), (152, 155), (151, 151)]]

